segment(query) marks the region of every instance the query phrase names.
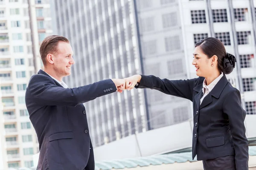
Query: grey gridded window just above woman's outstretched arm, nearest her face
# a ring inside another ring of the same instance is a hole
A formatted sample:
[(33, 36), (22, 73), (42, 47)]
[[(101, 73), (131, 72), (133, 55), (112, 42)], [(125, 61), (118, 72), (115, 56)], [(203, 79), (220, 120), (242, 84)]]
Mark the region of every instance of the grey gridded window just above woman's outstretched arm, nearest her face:
[(178, 76), (184, 74), (182, 59), (174, 59), (167, 62), (168, 74), (170, 76)]

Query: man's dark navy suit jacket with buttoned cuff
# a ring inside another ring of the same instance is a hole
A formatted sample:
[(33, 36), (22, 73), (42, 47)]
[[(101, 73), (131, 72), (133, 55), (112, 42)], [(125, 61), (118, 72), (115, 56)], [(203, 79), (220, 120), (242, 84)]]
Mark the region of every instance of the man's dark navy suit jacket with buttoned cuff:
[(82, 103), (115, 91), (111, 79), (63, 88), (42, 70), (31, 77), (25, 99), (39, 141), (38, 170), (84, 169), (93, 148)]

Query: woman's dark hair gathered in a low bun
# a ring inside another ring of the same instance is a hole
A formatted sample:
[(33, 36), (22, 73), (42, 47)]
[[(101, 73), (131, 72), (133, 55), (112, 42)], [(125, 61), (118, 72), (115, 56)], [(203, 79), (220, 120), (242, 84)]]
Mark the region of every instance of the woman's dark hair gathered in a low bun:
[(207, 55), (208, 58), (218, 57), (218, 70), (224, 74), (230, 74), (235, 68), (236, 57), (226, 52), (223, 43), (214, 37), (208, 37), (195, 44)]

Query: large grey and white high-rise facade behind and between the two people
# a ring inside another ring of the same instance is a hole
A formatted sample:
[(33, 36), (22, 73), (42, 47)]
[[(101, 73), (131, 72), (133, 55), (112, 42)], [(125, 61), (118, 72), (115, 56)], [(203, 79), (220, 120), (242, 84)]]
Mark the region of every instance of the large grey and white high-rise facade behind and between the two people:
[[(241, 91), (248, 114), (256, 114), (255, 7), (253, 0), (78, 0), (52, 1), (55, 34), (74, 51), (69, 87), (107, 78), (153, 74), (196, 77), (195, 43), (220, 39), (238, 62), (230, 82)], [(254, 95), (253, 95), (254, 94)], [(155, 90), (132, 90), (85, 103), (96, 146), (192, 118), (186, 99)]]

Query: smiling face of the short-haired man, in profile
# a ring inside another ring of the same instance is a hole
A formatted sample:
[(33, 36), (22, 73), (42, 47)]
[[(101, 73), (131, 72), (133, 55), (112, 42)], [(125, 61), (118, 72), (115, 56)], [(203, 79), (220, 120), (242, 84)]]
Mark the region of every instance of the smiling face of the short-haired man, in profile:
[(75, 64), (73, 59), (73, 50), (70, 43), (59, 42), (58, 52), (54, 55), (53, 69), (58, 77), (65, 77), (71, 74), (71, 66)]

